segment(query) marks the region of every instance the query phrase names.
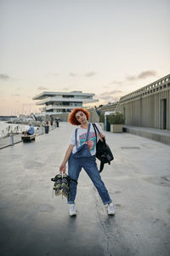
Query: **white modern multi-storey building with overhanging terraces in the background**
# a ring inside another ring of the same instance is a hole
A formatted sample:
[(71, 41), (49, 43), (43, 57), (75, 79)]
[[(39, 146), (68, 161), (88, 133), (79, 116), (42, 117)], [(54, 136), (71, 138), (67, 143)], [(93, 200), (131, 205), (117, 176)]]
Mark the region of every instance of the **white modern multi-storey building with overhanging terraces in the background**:
[(94, 93), (82, 93), (82, 91), (71, 92), (54, 92), (43, 91), (41, 94), (34, 96), (33, 100), (37, 100), (37, 105), (42, 113), (60, 114), (70, 113), (74, 108), (86, 108), (87, 103), (99, 102), (93, 99)]

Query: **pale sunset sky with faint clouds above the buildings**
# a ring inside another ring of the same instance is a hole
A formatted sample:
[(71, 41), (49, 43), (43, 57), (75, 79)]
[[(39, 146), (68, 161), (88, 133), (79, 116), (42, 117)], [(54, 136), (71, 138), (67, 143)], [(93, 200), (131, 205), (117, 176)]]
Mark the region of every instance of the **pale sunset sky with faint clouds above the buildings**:
[(42, 91), (116, 102), (170, 73), (169, 0), (0, 0), (0, 115)]

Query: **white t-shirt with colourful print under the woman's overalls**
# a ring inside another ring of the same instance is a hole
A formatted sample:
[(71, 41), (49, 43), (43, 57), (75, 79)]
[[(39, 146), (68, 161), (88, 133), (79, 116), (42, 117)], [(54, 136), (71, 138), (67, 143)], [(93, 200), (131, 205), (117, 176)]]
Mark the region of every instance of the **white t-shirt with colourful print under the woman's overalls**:
[[(98, 127), (99, 132), (105, 135), (100, 125), (99, 124), (95, 124), (95, 125)], [(98, 142), (99, 141), (98, 131), (96, 131), (96, 133), (97, 133), (97, 142)], [(86, 142), (87, 134), (88, 134), (88, 129), (82, 129), (82, 127), (77, 128), (77, 148), (79, 148), (80, 146), (82, 146), (83, 143)], [(75, 131), (73, 131), (71, 134), (70, 144), (75, 145), (74, 148), (72, 149), (72, 153), (75, 154), (77, 152), (76, 142), (75, 142)], [(92, 155), (96, 154), (96, 136), (95, 136), (94, 126), (92, 124), (90, 124), (90, 130), (88, 135), (88, 148)]]

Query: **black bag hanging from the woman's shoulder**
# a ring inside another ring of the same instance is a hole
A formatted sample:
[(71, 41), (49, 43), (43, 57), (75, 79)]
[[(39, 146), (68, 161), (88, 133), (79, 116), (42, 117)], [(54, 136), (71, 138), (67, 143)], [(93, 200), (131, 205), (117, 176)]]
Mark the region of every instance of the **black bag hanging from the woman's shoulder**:
[(108, 163), (111, 165), (111, 160), (114, 160), (113, 154), (111, 152), (111, 148), (105, 143), (105, 137), (103, 137), (103, 142), (99, 140), (97, 143), (97, 132), (99, 133), (98, 127), (94, 125), (94, 131), (96, 135), (96, 157), (97, 159), (100, 160), (100, 167), (99, 167), (99, 172), (102, 172), (104, 165)]

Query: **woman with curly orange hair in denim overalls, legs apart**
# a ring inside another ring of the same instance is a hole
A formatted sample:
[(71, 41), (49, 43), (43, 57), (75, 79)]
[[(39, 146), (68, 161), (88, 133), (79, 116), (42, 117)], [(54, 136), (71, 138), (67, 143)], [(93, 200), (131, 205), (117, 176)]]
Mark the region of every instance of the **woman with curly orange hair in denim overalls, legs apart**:
[[(71, 125), (80, 125), (77, 131), (71, 135), (70, 145), (65, 152), (65, 158), (59, 167), (59, 171), (65, 174), (65, 164), (68, 160), (68, 175), (71, 177), (71, 195), (68, 198), (68, 204), (70, 205), (70, 216), (77, 215), (75, 207), (75, 198), (77, 195), (77, 181), (79, 174), (83, 169), (87, 172), (91, 178), (94, 186), (99, 192), (99, 196), (104, 205), (108, 204), (108, 214), (114, 215), (115, 210), (111, 198), (108, 194), (105, 184), (102, 182), (99, 175), (99, 170), (95, 162), (96, 153), (96, 136), (94, 132), (94, 126), (88, 123), (90, 114), (83, 108), (75, 108), (72, 110), (69, 116), (69, 122)], [(105, 137), (101, 127), (96, 124), (100, 134), (97, 138), (102, 141), (102, 137)], [(75, 181), (74, 181), (75, 180)]]

